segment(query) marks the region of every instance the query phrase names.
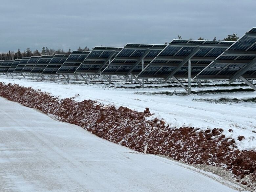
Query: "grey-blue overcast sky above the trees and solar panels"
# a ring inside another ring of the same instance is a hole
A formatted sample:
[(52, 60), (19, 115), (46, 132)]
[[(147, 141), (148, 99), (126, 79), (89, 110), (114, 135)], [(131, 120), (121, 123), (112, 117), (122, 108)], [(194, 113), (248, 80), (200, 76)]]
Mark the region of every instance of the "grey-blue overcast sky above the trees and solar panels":
[(0, 52), (223, 39), (256, 27), (256, 0), (9, 0)]

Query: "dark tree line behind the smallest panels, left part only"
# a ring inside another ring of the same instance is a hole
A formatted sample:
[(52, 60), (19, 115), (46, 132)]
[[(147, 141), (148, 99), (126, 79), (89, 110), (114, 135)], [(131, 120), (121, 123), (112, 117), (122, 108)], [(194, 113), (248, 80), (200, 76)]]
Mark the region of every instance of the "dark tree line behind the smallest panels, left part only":
[[(79, 47), (77, 51), (90, 51), (90, 49), (86, 46), (85, 48)], [(0, 60), (15, 60), (21, 59), (22, 57), (31, 57), (31, 56), (42, 56), (42, 55), (55, 55), (55, 54), (67, 54), (71, 53), (71, 49), (65, 52), (63, 49), (49, 49), (48, 47), (43, 47), (42, 50), (39, 52), (37, 49), (31, 51), (30, 48), (27, 48), (24, 52), (20, 51), (20, 48), (17, 52), (9, 51), (7, 53), (0, 53)]]

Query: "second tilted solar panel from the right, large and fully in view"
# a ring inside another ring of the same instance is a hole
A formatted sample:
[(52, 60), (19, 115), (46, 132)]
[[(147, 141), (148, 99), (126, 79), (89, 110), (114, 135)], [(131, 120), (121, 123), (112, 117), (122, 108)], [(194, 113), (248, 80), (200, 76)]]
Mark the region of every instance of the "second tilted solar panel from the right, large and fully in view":
[(179, 40), (174, 39), (138, 75), (140, 78), (187, 77), (187, 60), (191, 61), (191, 76), (197, 75), (216, 57), (222, 54), (229, 44), (224, 41)]

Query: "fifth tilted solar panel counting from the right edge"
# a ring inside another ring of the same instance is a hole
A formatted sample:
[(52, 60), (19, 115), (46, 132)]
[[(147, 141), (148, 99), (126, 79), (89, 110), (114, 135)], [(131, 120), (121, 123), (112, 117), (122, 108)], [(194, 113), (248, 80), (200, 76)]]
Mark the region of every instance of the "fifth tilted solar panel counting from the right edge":
[(58, 69), (57, 74), (74, 74), (89, 53), (90, 51), (73, 51)]

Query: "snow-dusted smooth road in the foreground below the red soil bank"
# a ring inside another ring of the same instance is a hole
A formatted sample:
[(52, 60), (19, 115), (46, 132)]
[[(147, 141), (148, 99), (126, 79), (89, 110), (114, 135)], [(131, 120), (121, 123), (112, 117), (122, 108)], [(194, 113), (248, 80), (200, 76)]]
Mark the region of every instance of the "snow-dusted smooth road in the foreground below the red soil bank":
[(1, 192), (234, 191), (2, 97), (0, 122)]

